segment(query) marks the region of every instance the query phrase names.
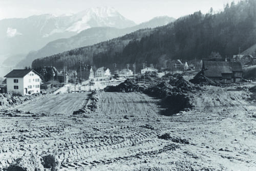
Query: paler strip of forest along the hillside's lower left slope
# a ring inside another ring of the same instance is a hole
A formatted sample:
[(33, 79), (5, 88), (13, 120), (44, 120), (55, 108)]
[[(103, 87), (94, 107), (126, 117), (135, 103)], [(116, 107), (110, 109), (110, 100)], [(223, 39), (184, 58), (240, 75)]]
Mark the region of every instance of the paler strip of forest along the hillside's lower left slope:
[(94, 45), (75, 48), (74, 50), (59, 53), (45, 58), (36, 59), (32, 62), (33, 68), (40, 68), (42, 66), (55, 66), (57, 69), (62, 69), (64, 65), (68, 69), (77, 69), (80, 65), (80, 58), (82, 64), (92, 66), (106, 66), (102, 63), (94, 63), (93, 58), (101, 53), (121, 53), (123, 48), (131, 41), (140, 39), (146, 35), (150, 35), (152, 29), (142, 29), (136, 32), (126, 34), (122, 37), (112, 40), (100, 42)]

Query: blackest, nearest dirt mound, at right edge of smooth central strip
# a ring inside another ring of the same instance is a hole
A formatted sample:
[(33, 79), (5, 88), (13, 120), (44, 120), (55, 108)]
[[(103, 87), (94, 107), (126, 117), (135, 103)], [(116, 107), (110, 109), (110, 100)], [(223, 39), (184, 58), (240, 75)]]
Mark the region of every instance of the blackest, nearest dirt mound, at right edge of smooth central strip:
[(162, 114), (165, 116), (170, 116), (180, 111), (186, 111), (189, 108), (193, 108), (193, 105), (190, 104), (190, 97), (183, 93), (173, 93), (168, 95), (163, 101), (162, 106), (166, 109), (162, 111)]

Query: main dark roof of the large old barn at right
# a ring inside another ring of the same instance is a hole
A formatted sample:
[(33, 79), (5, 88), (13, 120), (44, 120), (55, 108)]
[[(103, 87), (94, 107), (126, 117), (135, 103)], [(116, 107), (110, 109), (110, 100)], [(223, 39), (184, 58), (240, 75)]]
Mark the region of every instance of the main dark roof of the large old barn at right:
[(232, 74), (230, 62), (204, 61), (204, 75), (206, 77), (222, 77), (221, 74)]

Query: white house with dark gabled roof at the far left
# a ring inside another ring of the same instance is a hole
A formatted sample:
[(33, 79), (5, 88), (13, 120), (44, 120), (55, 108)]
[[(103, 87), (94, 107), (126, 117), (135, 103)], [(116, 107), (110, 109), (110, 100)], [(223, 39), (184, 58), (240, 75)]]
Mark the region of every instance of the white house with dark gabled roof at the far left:
[(40, 92), (40, 75), (33, 69), (13, 69), (5, 77), (7, 92), (22, 95)]

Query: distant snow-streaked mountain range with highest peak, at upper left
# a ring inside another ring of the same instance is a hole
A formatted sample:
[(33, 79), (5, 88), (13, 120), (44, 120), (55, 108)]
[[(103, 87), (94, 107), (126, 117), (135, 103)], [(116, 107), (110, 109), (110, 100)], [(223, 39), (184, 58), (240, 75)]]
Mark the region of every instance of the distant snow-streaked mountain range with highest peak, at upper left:
[(38, 50), (48, 42), (68, 38), (82, 30), (94, 27), (133, 27), (136, 23), (126, 19), (109, 7), (90, 8), (69, 16), (51, 14), (28, 18), (0, 20), (1, 55), (26, 54)]

